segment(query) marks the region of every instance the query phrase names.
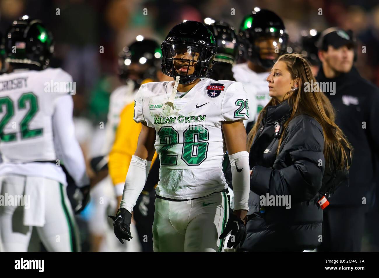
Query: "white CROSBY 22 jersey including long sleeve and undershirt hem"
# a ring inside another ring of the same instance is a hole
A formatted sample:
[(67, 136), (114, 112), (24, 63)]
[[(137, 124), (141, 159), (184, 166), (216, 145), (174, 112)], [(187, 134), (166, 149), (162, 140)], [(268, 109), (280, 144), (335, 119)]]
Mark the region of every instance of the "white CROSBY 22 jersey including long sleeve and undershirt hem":
[(64, 163), (78, 186), (89, 183), (74, 137), (73, 92), (72, 77), (60, 68), (0, 75), (0, 175), (39, 176), (66, 184), (57, 167)]

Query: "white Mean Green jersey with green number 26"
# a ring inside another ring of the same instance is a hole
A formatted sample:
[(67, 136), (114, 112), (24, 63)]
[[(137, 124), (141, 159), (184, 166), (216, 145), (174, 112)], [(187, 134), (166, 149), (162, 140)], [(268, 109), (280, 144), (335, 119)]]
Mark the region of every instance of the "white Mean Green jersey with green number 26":
[(189, 92), (178, 92), (172, 107), (165, 103), (173, 85), (144, 84), (135, 99), (134, 120), (156, 131), (161, 163), (156, 192), (170, 199), (193, 199), (222, 191), (227, 188), (222, 121), (249, 118), (246, 92), (240, 82), (202, 79)]

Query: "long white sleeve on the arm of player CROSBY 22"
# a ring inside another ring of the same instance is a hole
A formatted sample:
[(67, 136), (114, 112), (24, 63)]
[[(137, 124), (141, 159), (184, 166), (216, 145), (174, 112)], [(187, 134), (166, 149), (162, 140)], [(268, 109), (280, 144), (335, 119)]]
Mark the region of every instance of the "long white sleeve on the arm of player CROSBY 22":
[(72, 110), (72, 96), (64, 95), (56, 99), (53, 115), (53, 138), (56, 154), (78, 187), (89, 185), (86, 164), (78, 141), (75, 138)]

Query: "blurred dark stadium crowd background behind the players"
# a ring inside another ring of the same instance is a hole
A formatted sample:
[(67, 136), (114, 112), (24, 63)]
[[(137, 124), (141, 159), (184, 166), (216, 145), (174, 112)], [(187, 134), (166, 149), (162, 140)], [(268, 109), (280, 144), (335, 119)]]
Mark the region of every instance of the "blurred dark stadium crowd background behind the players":
[[(356, 67), (364, 78), (379, 85), (377, 0), (0, 0), (0, 31), (6, 33), (11, 22), (24, 14), (41, 19), (52, 31), (56, 41), (52, 66), (62, 67), (76, 82), (76, 133), (89, 158), (100, 151), (103, 129), (99, 126), (106, 123), (110, 93), (121, 85), (117, 54), (125, 45), (138, 35), (161, 42), (185, 19), (202, 22), (211, 17), (238, 30), (243, 16), (254, 7), (270, 9), (282, 17), (293, 51), (301, 51), (302, 37), (309, 35), (309, 30), (320, 33), (330, 26), (353, 30), (358, 40)], [(366, 53), (360, 51), (362, 46), (366, 46)], [(92, 250), (89, 217), (91, 205), (78, 217), (83, 251)], [(376, 217), (377, 213), (368, 214), (362, 251), (379, 251), (377, 235), (371, 232), (377, 231)], [(138, 250), (138, 246), (133, 248)]]

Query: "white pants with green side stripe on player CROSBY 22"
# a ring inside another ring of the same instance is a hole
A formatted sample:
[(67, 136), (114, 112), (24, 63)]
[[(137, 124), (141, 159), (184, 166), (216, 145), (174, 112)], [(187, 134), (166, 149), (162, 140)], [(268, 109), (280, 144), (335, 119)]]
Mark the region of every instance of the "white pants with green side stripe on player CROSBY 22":
[[(78, 252), (80, 251), (78, 230), (74, 214), (67, 197), (66, 186), (43, 177), (27, 177), (23, 175), (6, 175), (0, 177), (0, 197), (8, 198), (6, 205), (0, 205), (0, 233), (5, 252), (27, 252), (32, 226), (23, 225), (25, 203), (10, 202), (9, 198), (23, 196), (28, 180), (33, 184), (38, 182), (44, 190), (43, 198), (35, 196), (30, 202), (42, 204), (45, 224), (36, 227), (39, 238), (49, 252)], [(41, 190), (40, 188), (40, 190)], [(9, 197), (13, 196), (13, 197)], [(5, 200), (7, 201), (7, 200)]]

